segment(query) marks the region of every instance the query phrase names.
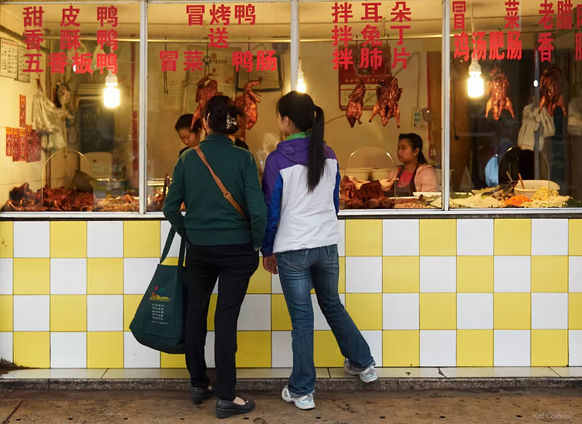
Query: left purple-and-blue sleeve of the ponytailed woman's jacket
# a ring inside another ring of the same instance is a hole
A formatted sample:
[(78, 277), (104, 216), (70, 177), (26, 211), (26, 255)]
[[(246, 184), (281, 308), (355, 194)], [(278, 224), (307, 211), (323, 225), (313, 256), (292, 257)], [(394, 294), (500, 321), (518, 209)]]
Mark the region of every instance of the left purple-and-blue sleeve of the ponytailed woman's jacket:
[(275, 234), (281, 219), (281, 197), (283, 195), (283, 177), (276, 165), (276, 160), (269, 155), (265, 162), (265, 171), (262, 175), (262, 192), (267, 203), (267, 228), (262, 239), (262, 256), (273, 254)]

